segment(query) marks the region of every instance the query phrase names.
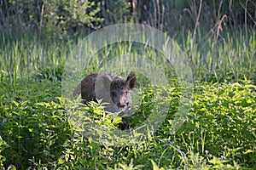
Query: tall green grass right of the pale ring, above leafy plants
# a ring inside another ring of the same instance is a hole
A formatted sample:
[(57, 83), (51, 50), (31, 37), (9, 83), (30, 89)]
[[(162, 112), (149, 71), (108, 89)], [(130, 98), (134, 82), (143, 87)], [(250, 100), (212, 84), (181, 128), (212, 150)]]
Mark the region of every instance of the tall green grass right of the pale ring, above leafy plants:
[[(183, 31), (175, 39), (191, 59), (195, 80), (207, 82), (237, 82), (245, 77), (253, 79), (256, 69), (256, 31), (245, 28), (225, 29), (215, 42), (212, 32), (201, 31), (194, 38)], [(193, 42), (193, 48), (191, 48)]]

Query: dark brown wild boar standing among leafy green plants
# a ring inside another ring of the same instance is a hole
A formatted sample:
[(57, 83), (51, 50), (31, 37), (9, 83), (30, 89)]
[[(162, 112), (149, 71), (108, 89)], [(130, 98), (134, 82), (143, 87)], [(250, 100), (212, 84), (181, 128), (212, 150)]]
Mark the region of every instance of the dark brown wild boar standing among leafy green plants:
[(73, 95), (81, 94), (83, 103), (102, 99), (108, 103), (105, 111), (118, 112), (122, 115), (127, 113), (131, 107), (130, 90), (136, 85), (136, 77), (133, 72), (126, 78), (110, 74), (92, 73), (85, 77), (74, 89)]

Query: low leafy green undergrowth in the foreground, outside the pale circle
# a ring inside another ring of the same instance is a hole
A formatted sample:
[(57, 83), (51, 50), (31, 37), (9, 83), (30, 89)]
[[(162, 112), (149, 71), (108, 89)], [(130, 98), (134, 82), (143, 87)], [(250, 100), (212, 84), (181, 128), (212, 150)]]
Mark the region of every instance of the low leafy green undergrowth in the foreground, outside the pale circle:
[[(59, 97), (60, 81), (19, 80), (15, 99), (4, 82), (0, 91), (1, 167), (255, 168), (256, 87), (250, 81), (195, 82), (191, 110), (176, 133), (172, 133), (170, 116), (154, 136), (118, 147), (104, 146), (73, 130)], [(144, 99), (148, 95), (150, 91), (143, 94)]]

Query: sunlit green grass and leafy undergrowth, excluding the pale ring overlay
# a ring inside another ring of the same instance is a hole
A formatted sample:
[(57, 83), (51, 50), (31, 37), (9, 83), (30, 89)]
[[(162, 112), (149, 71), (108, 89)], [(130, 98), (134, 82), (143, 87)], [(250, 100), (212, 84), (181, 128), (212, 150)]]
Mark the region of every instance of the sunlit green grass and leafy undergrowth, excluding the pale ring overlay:
[[(161, 108), (151, 109), (159, 104), (162, 89), (166, 93), (162, 101), (170, 107), (160, 128), (132, 145), (85, 138), (68, 119), (67, 105), (72, 107), (73, 101), (61, 98), (61, 77), (68, 53), (82, 40), (52, 42), (32, 34), (1, 35), (0, 169), (256, 168), (255, 29), (224, 31), (218, 37), (201, 33), (196, 39), (189, 31), (174, 36), (177, 47), (172, 52), (180, 48), (190, 61), (193, 85), (183, 87), (178, 77), (170, 76), (171, 87), (154, 87), (138, 75), (142, 104), (123, 121), (136, 127), (148, 116), (161, 114)], [(162, 62), (161, 54), (144, 46), (108, 45), (90, 60), (84, 74), (99, 71), (108, 57), (131, 52), (146, 53), (155, 63)], [(193, 96), (183, 125), (173, 132), (183, 88), (191, 88)], [(93, 117), (99, 136), (106, 129), (118, 130), (120, 121), (106, 116), (100, 106), (81, 105)]]

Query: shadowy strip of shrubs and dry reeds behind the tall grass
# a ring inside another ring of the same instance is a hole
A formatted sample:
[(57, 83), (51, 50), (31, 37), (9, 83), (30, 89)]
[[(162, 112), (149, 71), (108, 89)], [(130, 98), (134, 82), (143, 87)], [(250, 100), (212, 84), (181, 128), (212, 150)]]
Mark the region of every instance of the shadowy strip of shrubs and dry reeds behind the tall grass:
[[(134, 2), (136, 8), (132, 6)], [(199, 7), (200, 1), (195, 0), (4, 0), (0, 3), (0, 29), (46, 31), (61, 36), (116, 23), (139, 22), (175, 33), (195, 28)], [(201, 29), (214, 29), (223, 17), (228, 26), (255, 26), (255, 2), (202, 1)]]

